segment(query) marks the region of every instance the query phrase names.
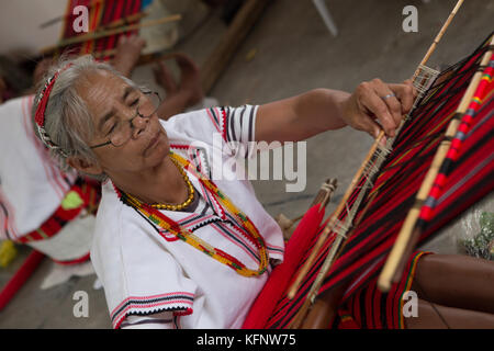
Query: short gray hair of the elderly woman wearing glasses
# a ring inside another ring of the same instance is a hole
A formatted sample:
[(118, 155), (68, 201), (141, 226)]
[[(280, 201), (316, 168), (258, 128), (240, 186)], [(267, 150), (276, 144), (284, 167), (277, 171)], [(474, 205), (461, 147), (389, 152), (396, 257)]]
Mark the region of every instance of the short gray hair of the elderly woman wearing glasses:
[[(44, 129), (53, 144), (56, 145), (50, 148), (52, 155), (60, 161), (59, 166), (65, 170), (69, 168), (66, 162), (69, 156), (78, 156), (90, 162), (97, 162), (94, 154), (85, 141), (90, 140), (94, 133), (91, 113), (83, 99), (79, 95), (77, 88), (78, 84), (85, 82), (89, 73), (98, 70), (109, 71), (122, 78), (130, 86), (139, 89), (132, 80), (122, 76), (112, 66), (96, 61), (91, 55), (75, 59), (61, 58), (57, 65), (49, 69), (45, 77), (46, 79), (43, 80), (42, 86), (37, 89), (32, 111), (33, 123), (40, 97), (47, 79), (59, 71), (46, 105)], [(35, 123), (34, 129), (40, 137)]]

